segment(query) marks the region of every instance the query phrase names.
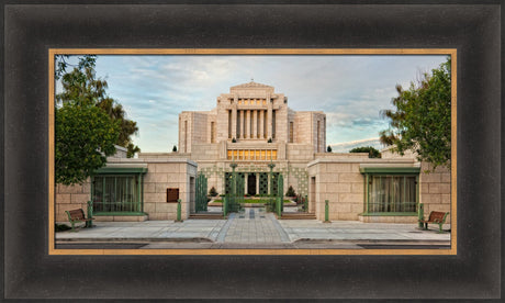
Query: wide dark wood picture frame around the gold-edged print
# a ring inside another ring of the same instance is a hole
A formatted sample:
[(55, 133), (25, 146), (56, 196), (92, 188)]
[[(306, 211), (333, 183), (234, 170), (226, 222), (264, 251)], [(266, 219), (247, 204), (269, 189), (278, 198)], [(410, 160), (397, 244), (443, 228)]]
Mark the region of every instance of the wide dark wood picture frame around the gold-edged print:
[[(500, 298), (502, 3), (380, 2), (4, 4), (3, 298)], [(52, 47), (457, 48), (458, 255), (48, 255)]]

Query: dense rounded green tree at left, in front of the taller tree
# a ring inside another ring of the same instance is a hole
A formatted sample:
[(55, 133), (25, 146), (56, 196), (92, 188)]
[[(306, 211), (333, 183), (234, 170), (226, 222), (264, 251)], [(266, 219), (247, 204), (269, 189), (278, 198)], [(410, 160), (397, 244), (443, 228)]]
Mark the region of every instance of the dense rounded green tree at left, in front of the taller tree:
[(115, 153), (119, 122), (94, 105), (67, 103), (55, 115), (56, 182), (82, 183)]

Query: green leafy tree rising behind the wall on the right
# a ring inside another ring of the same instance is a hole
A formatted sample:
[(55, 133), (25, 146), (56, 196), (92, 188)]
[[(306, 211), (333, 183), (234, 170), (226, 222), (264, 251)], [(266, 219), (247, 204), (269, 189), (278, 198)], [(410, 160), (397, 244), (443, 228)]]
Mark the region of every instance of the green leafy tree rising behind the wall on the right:
[(417, 154), (418, 160), (450, 167), (451, 156), (451, 60), (424, 74), (415, 85), (404, 90), (396, 86), (399, 96), (392, 99), (396, 111), (384, 110), (390, 127), (380, 133), (381, 142), (394, 145), (393, 150)]

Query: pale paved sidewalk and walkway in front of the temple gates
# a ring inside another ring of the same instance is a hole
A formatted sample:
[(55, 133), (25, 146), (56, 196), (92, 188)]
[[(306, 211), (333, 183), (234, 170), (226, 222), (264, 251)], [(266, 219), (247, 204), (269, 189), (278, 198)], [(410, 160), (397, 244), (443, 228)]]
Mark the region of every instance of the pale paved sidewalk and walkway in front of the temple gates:
[[(246, 207), (227, 220), (97, 222), (93, 228), (56, 233), (57, 244), (135, 243), (142, 248), (373, 248), (373, 245), (448, 246), (438, 225), (277, 220)], [(449, 225), (445, 226), (445, 229)], [(447, 248), (447, 247), (444, 247)]]

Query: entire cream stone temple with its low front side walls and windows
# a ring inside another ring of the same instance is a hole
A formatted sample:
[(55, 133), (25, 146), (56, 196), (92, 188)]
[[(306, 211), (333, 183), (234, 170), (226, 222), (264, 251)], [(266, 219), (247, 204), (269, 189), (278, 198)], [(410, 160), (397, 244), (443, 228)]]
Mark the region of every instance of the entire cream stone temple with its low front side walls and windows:
[(211, 111), (181, 112), (177, 153), (126, 158), (117, 150), (83, 184), (57, 186), (56, 222), (67, 220), (67, 210), (86, 210), (90, 200), (96, 221), (175, 220), (173, 197), (186, 220), (195, 212), (199, 176), (206, 178), (205, 192), (213, 187), (226, 193), (232, 164), (249, 195), (268, 193), (277, 180), (268, 178), (272, 167), (274, 177), (283, 177), (282, 191), (291, 186), (307, 197), (308, 212), (319, 221), (326, 200), (332, 221), (416, 223), (419, 203), (425, 216), (451, 210), (449, 170), (426, 173), (429, 164), (391, 148), (382, 158), (326, 153), (324, 112), (290, 109), (283, 93), (254, 81), (220, 94)]

